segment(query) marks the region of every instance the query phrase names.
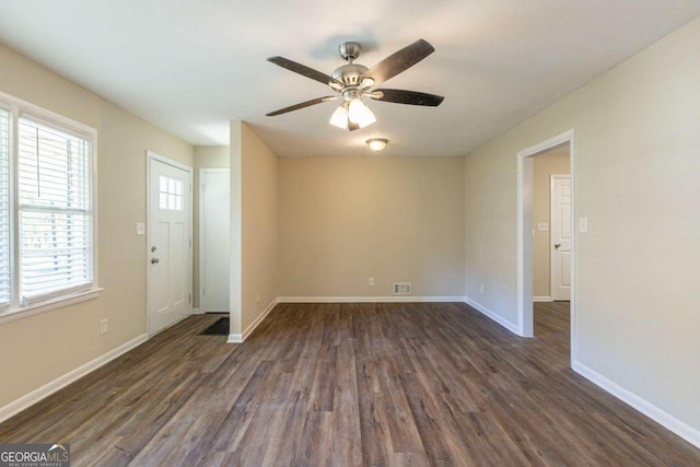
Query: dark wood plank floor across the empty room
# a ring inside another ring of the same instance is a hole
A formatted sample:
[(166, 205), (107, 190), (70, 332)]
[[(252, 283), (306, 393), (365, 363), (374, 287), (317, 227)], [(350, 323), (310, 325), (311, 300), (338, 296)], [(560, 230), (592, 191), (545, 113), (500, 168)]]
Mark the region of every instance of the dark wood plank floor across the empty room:
[(569, 369), (568, 304), (521, 339), (464, 304), (284, 304), (243, 345), (194, 316), (0, 424), (98, 466), (691, 466)]

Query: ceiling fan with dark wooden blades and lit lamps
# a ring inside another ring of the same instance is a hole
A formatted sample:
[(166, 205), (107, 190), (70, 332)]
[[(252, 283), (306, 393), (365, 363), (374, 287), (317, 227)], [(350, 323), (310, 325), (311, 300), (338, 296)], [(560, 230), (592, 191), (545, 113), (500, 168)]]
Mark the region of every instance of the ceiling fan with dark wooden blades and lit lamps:
[(327, 101), (342, 98), (342, 104), (330, 117), (330, 124), (348, 129), (350, 131), (366, 127), (376, 121), (374, 113), (363, 102), (362, 97), (370, 97), (375, 101), (392, 102), (395, 104), (425, 105), (435, 107), (442, 103), (443, 96), (427, 94), (417, 91), (375, 89), (372, 86), (382, 84), (384, 81), (394, 78), (398, 73), (406, 71), (413, 65), (435, 51), (435, 48), (427, 40), (419, 39), (413, 44), (404, 47), (397, 52), (386, 57), (372, 68), (366, 68), (353, 61), (360, 56), (362, 48), (358, 43), (342, 43), (338, 47), (338, 52), (348, 63), (338, 67), (330, 75), (316, 71), (304, 65), (289, 60), (284, 57), (270, 57), (268, 61), (287, 68), (290, 71), (302, 74), (312, 80), (328, 84), (334, 95), (313, 98), (279, 110), (266, 114), (272, 117), (285, 114), (300, 108), (320, 104)]

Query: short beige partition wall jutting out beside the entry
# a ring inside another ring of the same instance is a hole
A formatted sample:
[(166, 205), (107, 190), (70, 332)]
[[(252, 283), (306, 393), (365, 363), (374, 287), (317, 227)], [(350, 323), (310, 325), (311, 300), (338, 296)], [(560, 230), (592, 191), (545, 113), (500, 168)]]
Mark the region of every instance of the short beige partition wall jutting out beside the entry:
[(231, 334), (244, 335), (279, 295), (278, 157), (231, 121)]

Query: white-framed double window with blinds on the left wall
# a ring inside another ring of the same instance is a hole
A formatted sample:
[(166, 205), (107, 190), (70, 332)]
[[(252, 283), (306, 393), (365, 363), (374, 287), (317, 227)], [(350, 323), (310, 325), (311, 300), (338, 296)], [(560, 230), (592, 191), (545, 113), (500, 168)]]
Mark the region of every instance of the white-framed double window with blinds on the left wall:
[(95, 138), (0, 94), (0, 317), (95, 290)]

